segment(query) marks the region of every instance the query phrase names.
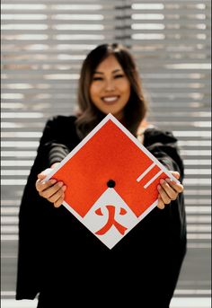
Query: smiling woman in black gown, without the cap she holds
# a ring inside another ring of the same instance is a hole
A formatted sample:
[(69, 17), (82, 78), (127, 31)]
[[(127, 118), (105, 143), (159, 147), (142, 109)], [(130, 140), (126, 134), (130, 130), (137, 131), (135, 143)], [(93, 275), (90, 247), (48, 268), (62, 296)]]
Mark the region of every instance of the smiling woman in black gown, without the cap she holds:
[(109, 250), (61, 207), (65, 184), (41, 180), (108, 113), (182, 181), (177, 140), (171, 132), (143, 128), (146, 101), (137, 67), (121, 45), (101, 45), (85, 58), (78, 105), (77, 116), (46, 124), (24, 189), (16, 299), (40, 294), (41, 308), (167, 308), (186, 251), (182, 184), (161, 180), (158, 207)]

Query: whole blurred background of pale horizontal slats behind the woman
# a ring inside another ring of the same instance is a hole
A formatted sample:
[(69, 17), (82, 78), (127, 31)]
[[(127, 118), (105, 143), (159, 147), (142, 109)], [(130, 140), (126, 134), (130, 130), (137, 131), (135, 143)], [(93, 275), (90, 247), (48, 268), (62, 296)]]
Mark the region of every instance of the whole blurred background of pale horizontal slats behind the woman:
[(149, 121), (178, 137), (185, 163), (188, 252), (172, 308), (210, 307), (209, 0), (2, 1), (2, 307), (15, 302), (22, 190), (49, 117), (75, 112), (79, 70), (104, 42), (136, 57)]

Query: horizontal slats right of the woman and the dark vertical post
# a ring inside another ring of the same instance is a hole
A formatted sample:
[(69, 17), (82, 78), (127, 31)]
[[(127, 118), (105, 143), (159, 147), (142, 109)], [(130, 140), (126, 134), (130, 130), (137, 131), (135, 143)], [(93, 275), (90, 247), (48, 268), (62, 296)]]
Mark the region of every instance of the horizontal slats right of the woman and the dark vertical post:
[(211, 277), (210, 2), (133, 2), (128, 44), (150, 120), (178, 137), (185, 164), (188, 253), (175, 296), (209, 296)]

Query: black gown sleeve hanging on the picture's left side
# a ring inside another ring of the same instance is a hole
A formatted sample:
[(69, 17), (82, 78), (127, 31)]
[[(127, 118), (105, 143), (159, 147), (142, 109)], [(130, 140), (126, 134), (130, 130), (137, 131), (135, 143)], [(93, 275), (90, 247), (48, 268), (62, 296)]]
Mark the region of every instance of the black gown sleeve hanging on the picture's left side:
[(19, 211), (19, 246), (16, 299), (34, 299), (40, 292), (45, 268), (43, 248), (47, 245), (43, 230), (48, 228), (54, 207), (35, 189), (38, 173), (60, 162), (69, 152), (57, 118), (49, 119), (40, 138), (36, 158), (23, 190)]

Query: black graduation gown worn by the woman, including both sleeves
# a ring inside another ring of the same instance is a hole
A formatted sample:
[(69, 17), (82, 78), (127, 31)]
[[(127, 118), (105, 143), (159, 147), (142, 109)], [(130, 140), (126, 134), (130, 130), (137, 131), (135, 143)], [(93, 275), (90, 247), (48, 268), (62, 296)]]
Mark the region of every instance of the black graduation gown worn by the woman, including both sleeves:
[[(37, 174), (79, 142), (74, 116), (47, 122), (22, 195), (16, 299), (40, 294), (42, 308), (169, 307), (186, 252), (183, 193), (163, 210), (155, 207), (109, 250), (65, 207), (53, 207), (35, 189)], [(147, 128), (144, 145), (182, 181), (172, 133)]]

